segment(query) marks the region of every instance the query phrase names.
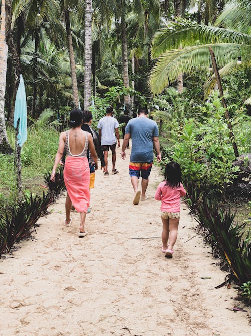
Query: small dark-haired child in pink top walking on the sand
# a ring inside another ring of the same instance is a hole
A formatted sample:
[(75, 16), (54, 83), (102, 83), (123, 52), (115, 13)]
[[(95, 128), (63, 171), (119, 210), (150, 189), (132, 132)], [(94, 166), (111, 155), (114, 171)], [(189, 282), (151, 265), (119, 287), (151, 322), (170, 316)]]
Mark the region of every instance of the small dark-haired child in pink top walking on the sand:
[(162, 252), (165, 253), (165, 257), (172, 258), (180, 221), (180, 197), (185, 196), (186, 191), (181, 183), (181, 169), (178, 163), (169, 162), (164, 177), (164, 182), (158, 185), (155, 199), (161, 200)]

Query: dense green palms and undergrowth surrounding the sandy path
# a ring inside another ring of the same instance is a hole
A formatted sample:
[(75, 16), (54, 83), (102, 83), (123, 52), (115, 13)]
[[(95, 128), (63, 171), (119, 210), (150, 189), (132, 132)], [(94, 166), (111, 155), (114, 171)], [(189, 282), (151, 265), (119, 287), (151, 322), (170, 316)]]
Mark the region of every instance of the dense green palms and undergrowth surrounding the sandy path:
[[(205, 240), (250, 300), (249, 222), (237, 223), (233, 207), (250, 197), (250, 51), (246, 0), (2, 0), (0, 253), (31, 236), (64, 187), (61, 173), (51, 185), (48, 171), (69, 111), (91, 110), (95, 127), (107, 105), (117, 117), (146, 106), (159, 125), (161, 166), (180, 163)], [(28, 120), (28, 140), (16, 146), (21, 199), (12, 126), (20, 74)]]

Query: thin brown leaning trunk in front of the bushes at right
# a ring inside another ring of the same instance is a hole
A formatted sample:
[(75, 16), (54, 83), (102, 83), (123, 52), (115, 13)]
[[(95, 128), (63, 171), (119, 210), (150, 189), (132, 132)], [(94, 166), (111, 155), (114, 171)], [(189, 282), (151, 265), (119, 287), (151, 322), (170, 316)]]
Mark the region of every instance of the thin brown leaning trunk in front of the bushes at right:
[(214, 52), (213, 52), (211, 47), (209, 47), (209, 52), (210, 52), (210, 55), (211, 55), (211, 60), (212, 60), (212, 64), (213, 64), (213, 70), (214, 70), (214, 73), (215, 73), (215, 78), (216, 78), (216, 81), (217, 81), (217, 84), (218, 84), (218, 87), (219, 87), (221, 102), (222, 102), (223, 107), (225, 108), (225, 118), (227, 120), (227, 125), (228, 125), (228, 128), (229, 128), (229, 136), (230, 136), (230, 139), (231, 139), (231, 142), (232, 142), (232, 145), (233, 145), (233, 151), (234, 151), (235, 156), (238, 157), (239, 152), (238, 152), (238, 148), (237, 148), (237, 145), (236, 145), (236, 142), (235, 142), (232, 124), (231, 124), (231, 121), (229, 120), (230, 119), (229, 118), (229, 113), (228, 113), (226, 101), (225, 101), (225, 98), (224, 98), (224, 93), (223, 93), (223, 89), (222, 89), (222, 85), (221, 85), (221, 80), (220, 80), (220, 75), (219, 75), (215, 55), (214, 55)]

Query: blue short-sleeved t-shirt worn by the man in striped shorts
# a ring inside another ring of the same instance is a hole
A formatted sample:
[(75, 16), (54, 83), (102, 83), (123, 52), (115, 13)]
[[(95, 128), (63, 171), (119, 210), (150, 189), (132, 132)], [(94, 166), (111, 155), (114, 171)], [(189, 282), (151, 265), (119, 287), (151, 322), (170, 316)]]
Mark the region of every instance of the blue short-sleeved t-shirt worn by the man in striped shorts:
[(129, 120), (125, 133), (130, 133), (132, 138), (130, 161), (153, 161), (153, 137), (159, 137), (157, 123), (146, 117), (134, 118)]

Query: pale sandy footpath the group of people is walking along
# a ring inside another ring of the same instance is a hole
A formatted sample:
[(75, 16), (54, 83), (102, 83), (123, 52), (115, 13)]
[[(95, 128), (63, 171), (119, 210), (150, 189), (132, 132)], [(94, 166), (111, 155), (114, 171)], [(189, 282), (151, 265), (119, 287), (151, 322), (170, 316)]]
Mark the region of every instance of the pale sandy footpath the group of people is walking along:
[(196, 222), (184, 204), (173, 259), (161, 253), (160, 239), (132, 239), (160, 237), (154, 192), (161, 177), (154, 168), (149, 199), (133, 206), (129, 156), (123, 161), (120, 152), (119, 174), (96, 173), (88, 236), (77, 237), (76, 212), (72, 227), (62, 225), (62, 197), (38, 221), (36, 240), (0, 260), (0, 334), (250, 335), (248, 314), (226, 309), (236, 291), (212, 289), (224, 273), (210, 248), (198, 236), (186, 242), (196, 235)]

